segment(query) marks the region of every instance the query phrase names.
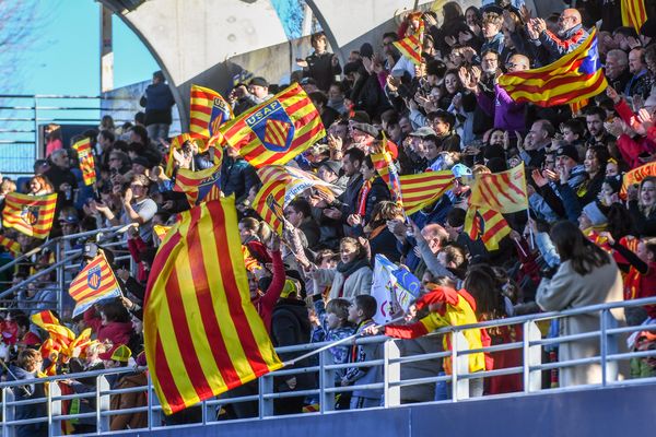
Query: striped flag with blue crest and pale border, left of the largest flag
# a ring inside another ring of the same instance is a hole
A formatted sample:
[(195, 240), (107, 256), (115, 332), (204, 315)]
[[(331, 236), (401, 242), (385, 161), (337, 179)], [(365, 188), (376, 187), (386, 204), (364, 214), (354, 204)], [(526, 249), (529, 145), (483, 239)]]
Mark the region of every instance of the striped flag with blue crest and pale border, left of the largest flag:
[(71, 282), (69, 294), (75, 300), (73, 317), (86, 311), (98, 300), (121, 295), (120, 285), (103, 252), (78, 273)]

